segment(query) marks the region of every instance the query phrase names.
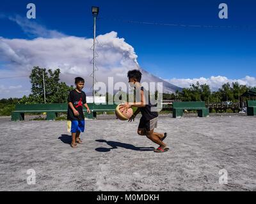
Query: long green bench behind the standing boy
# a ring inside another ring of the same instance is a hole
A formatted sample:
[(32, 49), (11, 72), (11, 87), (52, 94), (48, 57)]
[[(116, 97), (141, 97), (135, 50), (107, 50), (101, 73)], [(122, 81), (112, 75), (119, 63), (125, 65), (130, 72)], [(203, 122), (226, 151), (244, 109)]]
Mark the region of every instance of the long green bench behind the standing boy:
[[(91, 113), (88, 114), (84, 108), (84, 117), (87, 119), (97, 118), (97, 112), (113, 112), (116, 105), (96, 105), (88, 103)], [(56, 120), (58, 113), (67, 113), (67, 103), (52, 103), (52, 104), (18, 104), (12, 112), (12, 121), (24, 120), (25, 113), (46, 113), (47, 120)]]

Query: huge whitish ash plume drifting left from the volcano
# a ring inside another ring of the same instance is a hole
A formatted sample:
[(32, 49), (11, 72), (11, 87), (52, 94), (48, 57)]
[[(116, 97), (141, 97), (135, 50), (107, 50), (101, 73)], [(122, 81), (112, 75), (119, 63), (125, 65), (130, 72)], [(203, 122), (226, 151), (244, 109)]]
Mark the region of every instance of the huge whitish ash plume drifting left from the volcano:
[[(65, 36), (19, 16), (8, 19), (20, 25), (25, 33), (37, 38), (25, 40), (0, 36), (1, 77), (29, 76), (33, 66), (60, 68), (61, 80), (67, 84), (74, 84), (74, 78), (81, 76), (86, 79), (86, 88), (92, 87), (92, 38)], [(108, 77), (113, 77), (114, 83), (127, 82), (127, 71), (139, 67), (134, 48), (124, 38), (118, 38), (114, 31), (97, 36), (97, 42), (97, 81), (107, 83)], [(19, 85), (17, 80), (15, 85)], [(24, 79), (22, 81), (24, 83)], [(22, 84), (24, 89), (29, 88), (28, 77), (26, 81), (26, 85)], [(3, 80), (0, 81), (2, 82)], [(3, 91), (0, 92), (2, 93)]]

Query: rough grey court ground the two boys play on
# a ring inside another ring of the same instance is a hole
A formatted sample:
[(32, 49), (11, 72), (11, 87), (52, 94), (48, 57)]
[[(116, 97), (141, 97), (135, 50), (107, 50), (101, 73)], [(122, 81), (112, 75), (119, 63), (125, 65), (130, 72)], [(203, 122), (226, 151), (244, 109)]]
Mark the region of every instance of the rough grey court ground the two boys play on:
[(0, 191), (256, 191), (256, 117), (159, 117), (163, 154), (136, 135), (138, 122), (86, 120), (72, 149), (66, 121), (2, 119)]

